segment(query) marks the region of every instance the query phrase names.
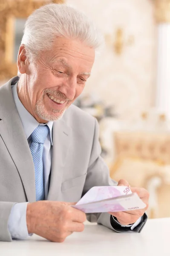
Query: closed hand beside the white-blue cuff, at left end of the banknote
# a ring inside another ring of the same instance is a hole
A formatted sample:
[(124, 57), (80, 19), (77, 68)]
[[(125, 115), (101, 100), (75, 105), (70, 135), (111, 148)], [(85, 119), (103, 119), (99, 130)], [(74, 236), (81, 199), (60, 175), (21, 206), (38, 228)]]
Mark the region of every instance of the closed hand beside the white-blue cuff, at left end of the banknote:
[(28, 232), (54, 242), (63, 242), (73, 232), (82, 232), (86, 214), (71, 207), (74, 204), (58, 201), (37, 201), (28, 204)]

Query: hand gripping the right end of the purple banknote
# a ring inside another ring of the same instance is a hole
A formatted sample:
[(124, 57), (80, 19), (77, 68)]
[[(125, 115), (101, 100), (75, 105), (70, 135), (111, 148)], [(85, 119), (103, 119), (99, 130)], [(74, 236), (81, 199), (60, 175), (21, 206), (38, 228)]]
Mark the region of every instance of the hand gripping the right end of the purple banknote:
[[(119, 180), (118, 186), (129, 186), (126, 180)], [(144, 215), (144, 212), (148, 208), (149, 192), (143, 188), (130, 188), (131, 191), (137, 193), (141, 200), (146, 204), (144, 209), (127, 211), (127, 212), (109, 212), (109, 214), (115, 216), (120, 224), (126, 226), (135, 223), (138, 218)]]

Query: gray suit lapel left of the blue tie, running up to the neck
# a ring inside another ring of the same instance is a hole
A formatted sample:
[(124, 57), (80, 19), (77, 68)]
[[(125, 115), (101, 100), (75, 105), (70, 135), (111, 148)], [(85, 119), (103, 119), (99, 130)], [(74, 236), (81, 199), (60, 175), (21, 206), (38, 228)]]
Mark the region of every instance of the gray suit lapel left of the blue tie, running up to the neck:
[(35, 171), (22, 122), (14, 104), (11, 81), (0, 88), (0, 136), (17, 168), (29, 202), (35, 199)]

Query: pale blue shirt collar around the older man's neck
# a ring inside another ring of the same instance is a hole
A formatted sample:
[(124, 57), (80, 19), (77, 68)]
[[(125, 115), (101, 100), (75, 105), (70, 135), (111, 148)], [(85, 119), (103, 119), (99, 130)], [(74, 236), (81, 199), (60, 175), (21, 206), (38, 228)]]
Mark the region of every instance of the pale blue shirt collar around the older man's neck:
[(23, 106), (22, 102), (20, 101), (17, 93), (17, 84), (14, 84), (12, 87), (12, 94), (14, 97), (14, 102), (17, 108), (17, 111), (19, 113), (21, 122), (23, 124), (23, 128), (26, 134), (26, 138), (28, 140), (29, 136), (32, 134), (32, 132), (37, 128), (38, 125), (48, 125), (49, 131), (50, 131), (50, 139), (51, 139), (51, 145), (52, 145), (52, 126), (53, 122), (47, 122), (46, 124), (40, 124), (37, 122), (37, 120), (26, 110), (26, 108)]

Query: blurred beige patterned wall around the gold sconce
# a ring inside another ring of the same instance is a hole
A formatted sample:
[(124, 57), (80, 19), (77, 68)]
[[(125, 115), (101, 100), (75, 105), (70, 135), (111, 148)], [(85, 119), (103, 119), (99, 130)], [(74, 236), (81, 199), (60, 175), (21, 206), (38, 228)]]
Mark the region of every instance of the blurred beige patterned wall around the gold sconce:
[(107, 104), (114, 104), (122, 117), (149, 108), (155, 97), (156, 25), (150, 0), (67, 0), (91, 17), (104, 35), (114, 40), (113, 31), (124, 29), (125, 45), (121, 56), (112, 46), (96, 61), (86, 92), (98, 93)]

